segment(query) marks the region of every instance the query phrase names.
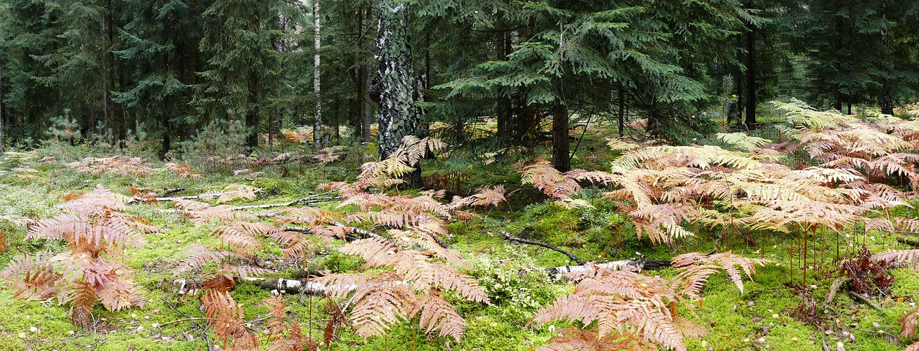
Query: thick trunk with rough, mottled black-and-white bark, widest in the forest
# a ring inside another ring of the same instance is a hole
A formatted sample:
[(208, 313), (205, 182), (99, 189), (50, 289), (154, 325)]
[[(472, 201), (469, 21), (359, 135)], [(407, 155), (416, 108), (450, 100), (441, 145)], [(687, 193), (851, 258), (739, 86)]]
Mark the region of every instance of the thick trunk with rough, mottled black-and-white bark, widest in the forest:
[(380, 0), (377, 7), (377, 76), (380, 79), (380, 159), (399, 148), (403, 137), (414, 135), (415, 114), (412, 50), (408, 39), (408, 4)]

